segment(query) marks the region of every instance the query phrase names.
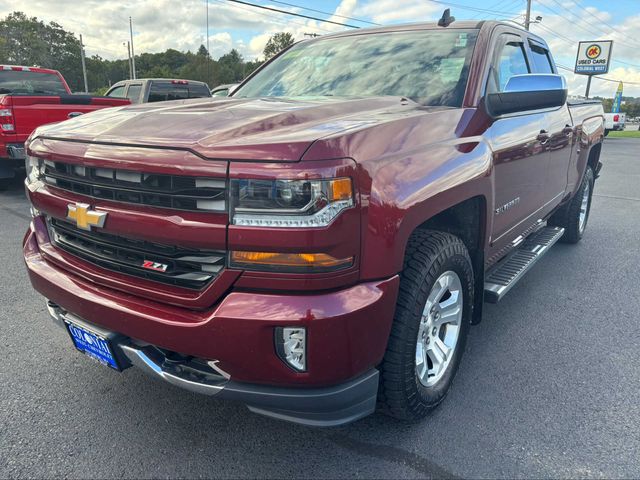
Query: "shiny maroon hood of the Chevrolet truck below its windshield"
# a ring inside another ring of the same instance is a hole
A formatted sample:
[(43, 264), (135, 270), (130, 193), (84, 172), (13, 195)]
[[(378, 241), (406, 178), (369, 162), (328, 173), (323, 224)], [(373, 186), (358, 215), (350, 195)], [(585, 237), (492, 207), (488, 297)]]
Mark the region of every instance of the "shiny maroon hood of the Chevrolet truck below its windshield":
[(194, 99), (109, 108), (47, 125), (42, 136), (191, 150), (206, 158), (298, 161), (319, 138), (425, 108), (400, 97)]

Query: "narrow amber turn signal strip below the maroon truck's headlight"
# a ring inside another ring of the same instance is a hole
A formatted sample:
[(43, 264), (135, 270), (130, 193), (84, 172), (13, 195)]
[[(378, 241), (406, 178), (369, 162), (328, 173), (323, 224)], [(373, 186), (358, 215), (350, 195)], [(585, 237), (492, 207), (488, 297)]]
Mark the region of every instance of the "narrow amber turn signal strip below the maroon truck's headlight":
[(231, 252), (231, 266), (290, 271), (334, 270), (350, 267), (353, 258), (334, 258), (326, 253)]

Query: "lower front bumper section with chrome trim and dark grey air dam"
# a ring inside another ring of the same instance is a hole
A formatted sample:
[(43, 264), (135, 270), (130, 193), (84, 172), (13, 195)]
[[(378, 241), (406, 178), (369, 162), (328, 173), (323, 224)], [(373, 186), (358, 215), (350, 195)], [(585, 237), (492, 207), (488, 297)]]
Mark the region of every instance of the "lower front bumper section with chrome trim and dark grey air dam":
[(375, 411), (378, 376), (376, 369), (340, 385), (321, 388), (274, 387), (234, 382), (217, 360), (195, 362), (178, 359), (153, 345), (107, 331), (47, 302), (54, 322), (66, 330), (65, 320), (87, 326), (109, 338), (121, 368), (135, 366), (171, 385), (204, 395), (244, 403), (249, 410), (304, 425), (330, 427), (351, 423)]

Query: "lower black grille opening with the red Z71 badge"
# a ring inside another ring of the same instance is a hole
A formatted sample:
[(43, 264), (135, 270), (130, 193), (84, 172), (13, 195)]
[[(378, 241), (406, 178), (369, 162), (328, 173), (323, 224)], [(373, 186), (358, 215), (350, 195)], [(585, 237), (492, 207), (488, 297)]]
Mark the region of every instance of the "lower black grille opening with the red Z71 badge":
[[(53, 244), (89, 263), (116, 272), (184, 288), (202, 289), (222, 271), (226, 254), (135, 240), (102, 231), (86, 232), (48, 220)], [(146, 265), (146, 267), (145, 267)]]

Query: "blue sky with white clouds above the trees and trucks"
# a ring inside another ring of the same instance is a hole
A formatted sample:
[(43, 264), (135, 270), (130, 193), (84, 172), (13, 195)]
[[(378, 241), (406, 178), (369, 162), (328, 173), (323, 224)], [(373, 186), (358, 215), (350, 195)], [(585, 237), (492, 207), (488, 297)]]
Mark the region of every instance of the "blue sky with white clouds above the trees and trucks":
[[(432, 21), (444, 8), (462, 19), (513, 19), (523, 21), (526, 0), (247, 0), (274, 8), (319, 16), (337, 22), (365, 23), (338, 17), (343, 15), (380, 24)], [(125, 0), (105, 2), (83, 0), (14, 0), (0, 4), (0, 16), (14, 10), (56, 21), (66, 29), (83, 34), (89, 55), (126, 57), (123, 42), (128, 39), (128, 18), (134, 21), (136, 53), (167, 48), (195, 50), (206, 43), (206, 0)], [(228, 0), (208, 0), (209, 44), (214, 57), (231, 48), (247, 58), (261, 56), (275, 32), (289, 31), (297, 39), (304, 33), (325, 34), (347, 27), (291, 17), (277, 12), (238, 5)], [(302, 7), (329, 12), (323, 15)], [(337, 14), (337, 15), (336, 15)], [(607, 78), (627, 82), (625, 94), (640, 96), (640, 0), (533, 0), (532, 17), (542, 22), (532, 30), (544, 37), (561, 65), (573, 67), (578, 40), (613, 39), (614, 63)], [(586, 78), (563, 71), (571, 93), (584, 93)], [(594, 80), (592, 93), (613, 96), (617, 84)]]

